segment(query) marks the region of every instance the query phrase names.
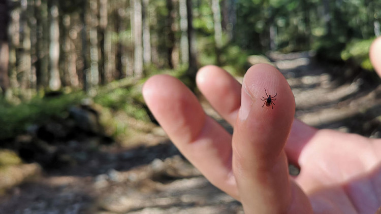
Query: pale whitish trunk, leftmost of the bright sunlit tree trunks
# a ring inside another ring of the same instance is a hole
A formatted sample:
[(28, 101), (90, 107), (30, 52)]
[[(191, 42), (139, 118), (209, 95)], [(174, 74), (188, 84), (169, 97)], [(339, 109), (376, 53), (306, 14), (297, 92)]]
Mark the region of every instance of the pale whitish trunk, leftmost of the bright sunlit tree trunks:
[(61, 87), (59, 77), (59, 21), (58, 21), (58, 1), (53, 0), (50, 8), (50, 79), (51, 90), (58, 90)]

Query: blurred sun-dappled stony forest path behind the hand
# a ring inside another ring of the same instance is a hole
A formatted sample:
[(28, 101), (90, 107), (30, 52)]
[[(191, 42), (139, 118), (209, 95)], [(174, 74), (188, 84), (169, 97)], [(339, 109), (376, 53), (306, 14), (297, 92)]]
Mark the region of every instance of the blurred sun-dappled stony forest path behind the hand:
[[(347, 68), (316, 63), (312, 55), (269, 55), (291, 85), (296, 118), (318, 128), (380, 137), (381, 87), (363, 76), (338, 81), (331, 74)], [(232, 132), (205, 99), (200, 100), (207, 114)], [(102, 140), (98, 136), (62, 144), (81, 161), (43, 170), (10, 188), (0, 196), (0, 214), (243, 213), (239, 202), (211, 185), (179, 154), (160, 127), (134, 124), (145, 131), (125, 139), (128, 146), (82, 148)]]

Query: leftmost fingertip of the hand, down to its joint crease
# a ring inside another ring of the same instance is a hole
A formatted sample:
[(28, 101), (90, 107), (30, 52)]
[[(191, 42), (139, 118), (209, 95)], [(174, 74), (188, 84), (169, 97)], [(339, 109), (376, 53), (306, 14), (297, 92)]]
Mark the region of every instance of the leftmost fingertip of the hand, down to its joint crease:
[(202, 106), (178, 79), (169, 75), (153, 76), (144, 84), (143, 96), (173, 141), (192, 141), (203, 127), (206, 116)]

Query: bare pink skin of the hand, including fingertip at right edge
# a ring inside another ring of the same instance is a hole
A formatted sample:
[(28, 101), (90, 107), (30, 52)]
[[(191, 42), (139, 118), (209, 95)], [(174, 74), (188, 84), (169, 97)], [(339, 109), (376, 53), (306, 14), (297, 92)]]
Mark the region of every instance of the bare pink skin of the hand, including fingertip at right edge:
[[(370, 59), (381, 76), (380, 56), (377, 39)], [(241, 86), (208, 65), (196, 81), (233, 125), (233, 135), (171, 76), (150, 78), (143, 96), (182, 154), (213, 185), (241, 201), (245, 213), (375, 213), (381, 205), (381, 140), (317, 130), (294, 119), (294, 96), (276, 68), (250, 67)], [(278, 94), (274, 109), (261, 107), (264, 88)], [(288, 174), (288, 162), (300, 167), (298, 176)]]

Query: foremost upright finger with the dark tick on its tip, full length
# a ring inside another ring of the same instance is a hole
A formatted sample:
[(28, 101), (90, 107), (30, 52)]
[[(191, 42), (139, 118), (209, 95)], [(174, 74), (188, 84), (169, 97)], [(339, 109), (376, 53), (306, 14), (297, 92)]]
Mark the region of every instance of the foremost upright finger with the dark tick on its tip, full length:
[[(250, 67), (233, 133), (233, 172), (245, 213), (308, 213), (283, 150), (295, 114), (284, 77), (268, 64)], [(297, 204), (297, 205), (296, 205)]]

